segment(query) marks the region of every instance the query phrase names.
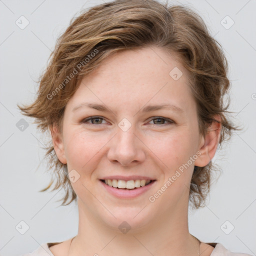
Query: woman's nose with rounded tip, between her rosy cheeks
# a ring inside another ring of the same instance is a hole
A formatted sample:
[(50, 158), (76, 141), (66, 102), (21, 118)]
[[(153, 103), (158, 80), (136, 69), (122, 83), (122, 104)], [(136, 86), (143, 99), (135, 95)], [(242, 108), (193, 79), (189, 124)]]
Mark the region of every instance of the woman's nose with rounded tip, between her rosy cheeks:
[(135, 134), (133, 126), (123, 131), (117, 128), (116, 135), (110, 141), (107, 158), (112, 162), (119, 162), (122, 166), (138, 164), (144, 161), (144, 144), (141, 138)]

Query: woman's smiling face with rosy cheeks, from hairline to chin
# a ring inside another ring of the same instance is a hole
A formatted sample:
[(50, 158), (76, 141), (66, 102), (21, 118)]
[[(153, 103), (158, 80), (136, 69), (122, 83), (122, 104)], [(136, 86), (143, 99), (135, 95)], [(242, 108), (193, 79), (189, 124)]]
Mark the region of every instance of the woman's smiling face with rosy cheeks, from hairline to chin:
[(199, 134), (185, 69), (157, 47), (104, 60), (81, 80), (62, 125), (53, 145), (80, 207), (111, 228), (123, 220), (141, 228), (184, 210), (194, 165), (215, 152)]

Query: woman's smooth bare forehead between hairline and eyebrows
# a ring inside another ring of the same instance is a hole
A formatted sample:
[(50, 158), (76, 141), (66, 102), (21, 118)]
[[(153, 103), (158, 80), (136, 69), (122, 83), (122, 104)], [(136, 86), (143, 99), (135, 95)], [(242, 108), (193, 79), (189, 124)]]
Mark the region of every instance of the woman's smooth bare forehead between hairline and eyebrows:
[(90, 100), (107, 107), (169, 103), (191, 108), (187, 72), (177, 58), (158, 47), (116, 52), (84, 77), (69, 100), (72, 107)]

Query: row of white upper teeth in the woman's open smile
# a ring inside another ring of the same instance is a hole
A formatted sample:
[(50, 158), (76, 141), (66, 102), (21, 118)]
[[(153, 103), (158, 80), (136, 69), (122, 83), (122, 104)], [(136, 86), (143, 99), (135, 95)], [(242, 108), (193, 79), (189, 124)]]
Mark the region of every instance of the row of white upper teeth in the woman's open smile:
[(105, 179), (105, 183), (109, 186), (118, 187), (118, 188), (129, 188), (133, 189), (134, 187), (145, 186), (150, 182), (150, 179), (135, 179), (135, 180), (123, 180), (123, 179)]

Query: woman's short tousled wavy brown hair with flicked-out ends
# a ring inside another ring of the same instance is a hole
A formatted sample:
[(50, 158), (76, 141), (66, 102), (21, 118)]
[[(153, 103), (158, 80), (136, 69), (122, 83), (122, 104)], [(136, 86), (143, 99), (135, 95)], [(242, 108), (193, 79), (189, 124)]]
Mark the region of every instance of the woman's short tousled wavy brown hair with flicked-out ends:
[[(230, 138), (231, 131), (237, 128), (227, 119), (229, 99), (226, 102), (223, 99), (230, 84), (221, 46), (191, 8), (168, 6), (167, 2), (155, 0), (115, 0), (82, 10), (79, 16), (73, 17), (57, 39), (50, 62), (39, 78), (35, 101), (18, 107), (25, 115), (35, 118), (41, 131), (49, 131), (53, 124), (61, 130), (65, 105), (82, 77), (114, 52), (147, 46), (161, 47), (177, 55), (188, 71), (200, 133), (206, 134), (208, 125), (217, 121), (213, 116), (218, 114), (222, 127), (219, 144)], [(45, 155), (49, 157), (52, 174), (57, 177), (52, 190), (64, 188), (61, 205), (67, 205), (77, 196), (67, 178), (66, 164), (58, 160), (49, 143)], [(189, 200), (196, 208), (205, 201), (213, 167), (210, 161), (204, 167), (194, 168)], [(53, 181), (51, 177), (48, 186), (40, 191), (50, 188)]]

